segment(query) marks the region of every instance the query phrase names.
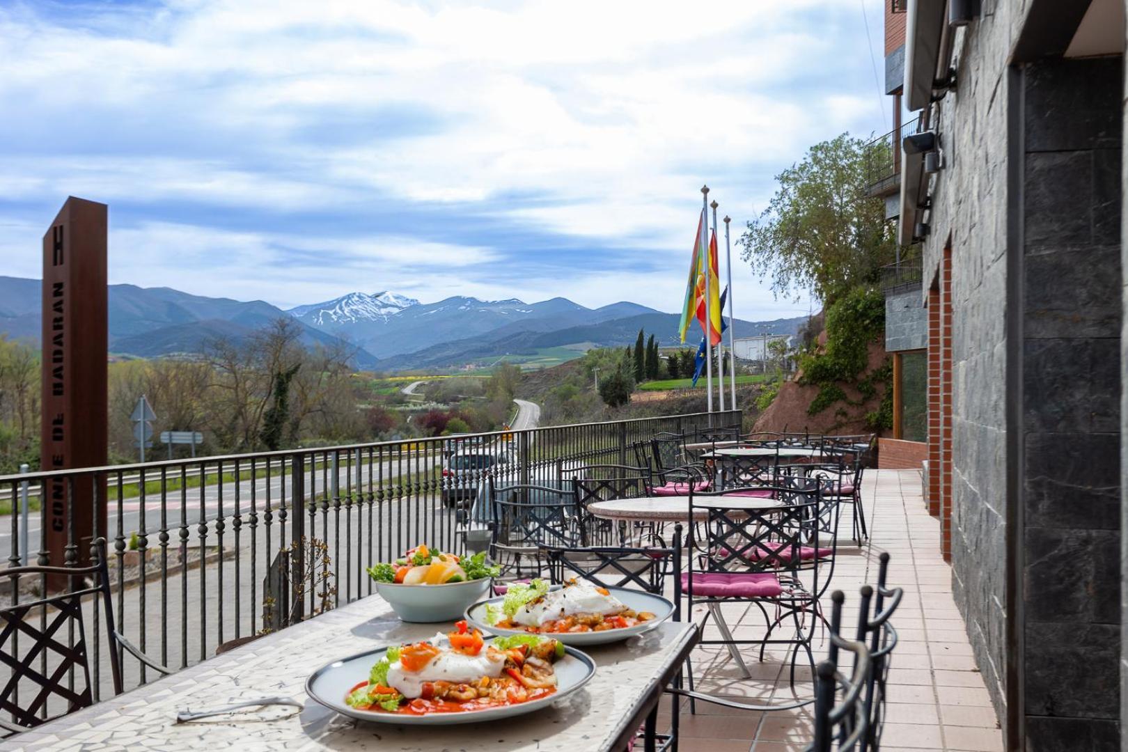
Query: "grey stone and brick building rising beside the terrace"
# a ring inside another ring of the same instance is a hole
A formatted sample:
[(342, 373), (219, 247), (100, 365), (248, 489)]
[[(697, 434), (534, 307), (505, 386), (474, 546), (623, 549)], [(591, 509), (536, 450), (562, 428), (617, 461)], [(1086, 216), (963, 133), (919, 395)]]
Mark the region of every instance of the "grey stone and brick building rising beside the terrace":
[(1128, 720), (1123, 6), (887, 3), (887, 346), (926, 373), (927, 504), (1010, 750)]

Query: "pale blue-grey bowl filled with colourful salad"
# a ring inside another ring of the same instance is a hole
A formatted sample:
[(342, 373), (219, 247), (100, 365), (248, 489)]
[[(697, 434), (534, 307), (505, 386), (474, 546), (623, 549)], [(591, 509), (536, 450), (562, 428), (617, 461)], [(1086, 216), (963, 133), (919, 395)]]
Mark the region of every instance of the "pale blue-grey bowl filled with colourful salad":
[(499, 567), (485, 551), (460, 557), (420, 543), (395, 561), (368, 568), (376, 592), (404, 621), (453, 621), (490, 592)]

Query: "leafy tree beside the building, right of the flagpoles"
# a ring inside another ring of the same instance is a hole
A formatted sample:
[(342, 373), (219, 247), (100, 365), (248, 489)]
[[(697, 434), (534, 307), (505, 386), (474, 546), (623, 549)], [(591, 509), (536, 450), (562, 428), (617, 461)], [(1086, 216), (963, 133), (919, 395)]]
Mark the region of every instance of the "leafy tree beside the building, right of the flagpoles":
[[(876, 147), (880, 149), (881, 147)], [(854, 286), (875, 282), (895, 258), (884, 202), (865, 195), (866, 142), (844, 133), (818, 143), (802, 162), (776, 176), (764, 212), (738, 244), (741, 258), (778, 294), (810, 292), (830, 304)]]

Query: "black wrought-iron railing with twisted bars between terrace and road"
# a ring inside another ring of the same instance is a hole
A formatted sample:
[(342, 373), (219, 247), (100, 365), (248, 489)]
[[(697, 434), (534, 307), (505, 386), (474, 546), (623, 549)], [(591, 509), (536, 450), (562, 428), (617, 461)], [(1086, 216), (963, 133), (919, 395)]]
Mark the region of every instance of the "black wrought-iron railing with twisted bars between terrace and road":
[[(0, 488), (18, 498), (27, 483), (43, 498), (27, 531), (37, 549), (32, 564), (56, 559), (44, 530), (49, 508), (65, 499), (67, 566), (86, 558), (89, 540), (76, 539), (72, 512), (83, 488), (92, 489), (94, 507), (107, 507), (92, 533), (107, 539), (117, 628), (175, 669), (372, 593), (365, 569), (416, 543), (465, 552), (459, 507), (490, 476), (543, 483), (582, 465), (631, 465), (635, 442), (740, 421), (740, 410), (730, 410), (476, 434), (457, 443), (440, 436), (30, 472), (0, 476)], [(20, 515), (0, 519), (3, 530), (0, 560), (18, 566)], [(9, 590), (16, 603), (20, 593)], [(108, 679), (95, 635), (88, 644), (98, 698)], [(124, 657), (126, 688), (152, 678)]]

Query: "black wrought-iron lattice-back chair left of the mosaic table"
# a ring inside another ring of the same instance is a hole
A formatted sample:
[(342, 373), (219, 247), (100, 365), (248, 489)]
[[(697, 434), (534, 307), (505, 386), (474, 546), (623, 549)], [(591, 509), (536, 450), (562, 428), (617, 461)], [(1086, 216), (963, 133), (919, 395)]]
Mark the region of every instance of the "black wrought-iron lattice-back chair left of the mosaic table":
[[(0, 713), (10, 715), (11, 720), (0, 719), (0, 729), (7, 734), (27, 731), (46, 720), (95, 702), (96, 688), (90, 680), (90, 667), (97, 663), (98, 651), (91, 661), (89, 645), (98, 643), (97, 611), (105, 618), (105, 629), (109, 644), (109, 667), (113, 674), (114, 693), (122, 692), (123, 652), (144, 663), (161, 674), (173, 673), (166, 666), (149, 658), (133, 646), (114, 626), (113, 602), (109, 592), (109, 575), (106, 568), (106, 541), (98, 538), (90, 546), (94, 563), (88, 567), (27, 566), (6, 569), (2, 575), (11, 581), (12, 591), (19, 592), (19, 581), (24, 576), (35, 576), (41, 582), (47, 577), (65, 577), (68, 587), (60, 593), (34, 601), (0, 605), (0, 662), (11, 671), (8, 682), (0, 689)], [(86, 620), (82, 616), (82, 599), (95, 599), (95, 623), (92, 640), (88, 643)], [(38, 614), (36, 620), (33, 614)], [(38, 625), (35, 622), (38, 621)], [(65, 634), (67, 638), (62, 635)], [(32, 647), (23, 655), (19, 638), (32, 640)], [(36, 667), (38, 663), (38, 667)], [(30, 696), (20, 692), (20, 684), (34, 687)], [(50, 705), (63, 705), (62, 713), (52, 714)]]

